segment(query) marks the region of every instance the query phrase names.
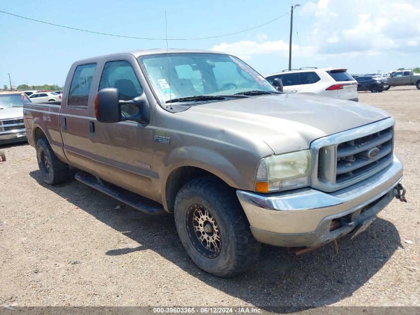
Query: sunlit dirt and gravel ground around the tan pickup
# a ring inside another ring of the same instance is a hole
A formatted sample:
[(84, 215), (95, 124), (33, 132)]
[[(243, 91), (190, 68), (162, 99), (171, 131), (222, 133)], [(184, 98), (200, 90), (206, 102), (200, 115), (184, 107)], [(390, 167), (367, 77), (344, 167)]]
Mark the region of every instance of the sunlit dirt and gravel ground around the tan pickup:
[(0, 164), (0, 305), (420, 306), (420, 91), (359, 93), (397, 120), (408, 203), (394, 200), (354, 240), (291, 256), (263, 246), (247, 273), (198, 269), (172, 215), (148, 217), (71, 180), (48, 186), (35, 150), (7, 145)]

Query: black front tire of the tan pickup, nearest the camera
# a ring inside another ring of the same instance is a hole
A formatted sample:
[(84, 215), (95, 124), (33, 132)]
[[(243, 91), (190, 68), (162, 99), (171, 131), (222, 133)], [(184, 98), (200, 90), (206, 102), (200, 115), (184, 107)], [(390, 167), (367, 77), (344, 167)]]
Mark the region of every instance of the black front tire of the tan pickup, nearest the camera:
[[(207, 209), (217, 222), (220, 247), (216, 257), (209, 258), (194, 243), (194, 237), (198, 237), (191, 233), (192, 225), (188, 224), (188, 216), (196, 205)], [(174, 217), (182, 245), (202, 270), (229, 278), (248, 270), (258, 259), (261, 243), (251, 233), (250, 223), (236, 191), (220, 179), (204, 176), (185, 184), (176, 195)]]

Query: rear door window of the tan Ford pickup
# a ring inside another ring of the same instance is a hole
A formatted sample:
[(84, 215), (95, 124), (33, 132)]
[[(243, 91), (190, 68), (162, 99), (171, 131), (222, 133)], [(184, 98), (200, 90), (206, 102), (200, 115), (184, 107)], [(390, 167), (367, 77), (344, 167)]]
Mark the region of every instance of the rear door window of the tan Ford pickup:
[(72, 85), (70, 86), (69, 106), (87, 107), (95, 69), (96, 64), (80, 65), (76, 68)]

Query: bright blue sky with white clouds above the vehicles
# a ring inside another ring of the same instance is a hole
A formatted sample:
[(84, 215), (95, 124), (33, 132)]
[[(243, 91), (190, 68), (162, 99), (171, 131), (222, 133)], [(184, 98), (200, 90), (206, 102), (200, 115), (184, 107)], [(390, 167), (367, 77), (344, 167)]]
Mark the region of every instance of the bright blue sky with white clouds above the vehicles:
[[(61, 2), (61, 3), (60, 3)], [(237, 32), (290, 12), (292, 2), (264, 1), (1, 1), (0, 10), (96, 32), (134, 37), (209, 37)], [(382, 73), (420, 67), (420, 1), (299, 0), (294, 11), (292, 67), (345, 67)], [(234, 54), (262, 75), (288, 66), (290, 14), (236, 35), (169, 41), (169, 48)], [(0, 13), (0, 87), (61, 85), (70, 65), (96, 55), (166, 47), (162, 40), (111, 37)], [(296, 32), (298, 31), (299, 36)]]

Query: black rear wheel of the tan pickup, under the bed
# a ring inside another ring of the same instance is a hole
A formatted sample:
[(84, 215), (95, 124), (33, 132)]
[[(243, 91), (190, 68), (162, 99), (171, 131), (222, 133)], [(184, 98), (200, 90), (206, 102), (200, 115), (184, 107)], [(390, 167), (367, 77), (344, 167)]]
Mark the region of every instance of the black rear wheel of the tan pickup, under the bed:
[(69, 179), (69, 165), (58, 159), (47, 138), (41, 138), (37, 141), (36, 157), (45, 183), (58, 185)]

